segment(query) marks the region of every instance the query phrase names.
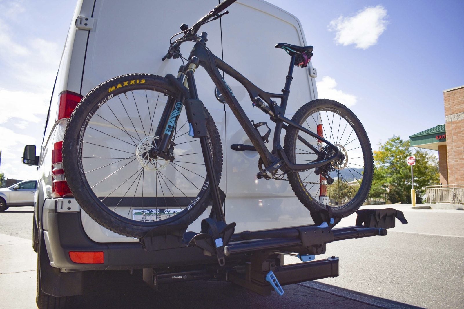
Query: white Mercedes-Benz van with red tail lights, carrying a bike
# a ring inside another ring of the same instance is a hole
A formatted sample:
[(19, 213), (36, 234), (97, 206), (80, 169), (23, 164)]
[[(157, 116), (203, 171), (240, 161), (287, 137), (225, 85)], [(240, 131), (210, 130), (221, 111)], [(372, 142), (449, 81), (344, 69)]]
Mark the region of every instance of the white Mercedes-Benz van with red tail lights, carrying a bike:
[[(161, 61), (169, 38), (182, 23), (192, 25), (218, 0), (78, 0), (45, 119), (43, 143), (26, 146), (25, 162), (39, 165), (34, 202), (33, 248), (38, 252), (39, 308), (65, 307), (67, 296), (81, 295), (84, 271), (162, 268), (172, 265), (217, 264), (184, 248), (148, 252), (139, 240), (113, 233), (93, 221), (72, 197), (61, 165), (64, 130), (73, 109), (98, 84), (128, 73), (176, 74), (180, 60)], [(307, 45), (295, 16), (262, 0), (238, 0), (221, 20), (204, 25), (207, 46), (258, 87), (279, 92), (285, 82), (289, 57), (274, 45)], [(193, 45), (182, 45), (188, 55)], [(317, 98), (315, 69), (296, 68), (286, 116)], [(206, 72), (196, 74), (200, 100), (213, 116), (221, 137), (224, 164), (220, 181), (226, 193), (227, 222), (236, 232), (311, 224), (309, 211), (297, 200), (288, 182), (258, 180), (258, 153), (234, 151), (232, 144), (251, 145), (226, 104), (216, 98)], [(255, 122), (269, 121), (253, 109), (245, 88), (225, 76), (246, 114)], [(50, 85), (52, 88), (52, 85)], [(272, 123), (269, 123), (271, 129)], [(283, 135), (282, 135), (283, 137)], [(269, 145), (269, 144), (267, 144)], [(189, 230), (199, 231), (200, 220)]]

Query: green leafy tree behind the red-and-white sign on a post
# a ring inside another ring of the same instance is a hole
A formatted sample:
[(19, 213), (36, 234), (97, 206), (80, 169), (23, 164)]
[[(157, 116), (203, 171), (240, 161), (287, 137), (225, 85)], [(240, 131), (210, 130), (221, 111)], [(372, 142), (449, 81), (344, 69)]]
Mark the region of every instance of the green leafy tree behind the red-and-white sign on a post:
[(411, 147), (409, 140), (393, 135), (387, 142), (380, 144), (378, 151), (374, 151), (377, 177), (382, 179), (381, 182), (391, 185), (388, 199), (392, 203), (411, 202), (411, 167), (406, 164), (408, 156), (416, 157), (413, 170), (417, 202), (421, 202), (420, 195), (426, 185), (439, 182), (437, 158), (424, 149)]

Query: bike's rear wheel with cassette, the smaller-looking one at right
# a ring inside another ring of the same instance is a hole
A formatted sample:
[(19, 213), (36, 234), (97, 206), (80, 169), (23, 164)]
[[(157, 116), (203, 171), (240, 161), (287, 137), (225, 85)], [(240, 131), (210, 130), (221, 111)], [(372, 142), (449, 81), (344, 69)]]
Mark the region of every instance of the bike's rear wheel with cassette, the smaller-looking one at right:
[[(296, 196), (310, 211), (330, 205), (336, 216), (353, 214), (366, 200), (373, 177), (372, 149), (361, 122), (347, 107), (327, 99), (306, 103), (292, 120), (317, 132), (344, 156), (317, 168), (287, 173)], [(321, 153), (316, 154), (301, 139)], [(333, 150), (322, 140), (293, 126), (285, 133), (284, 151), (294, 164), (307, 164), (333, 155)]]

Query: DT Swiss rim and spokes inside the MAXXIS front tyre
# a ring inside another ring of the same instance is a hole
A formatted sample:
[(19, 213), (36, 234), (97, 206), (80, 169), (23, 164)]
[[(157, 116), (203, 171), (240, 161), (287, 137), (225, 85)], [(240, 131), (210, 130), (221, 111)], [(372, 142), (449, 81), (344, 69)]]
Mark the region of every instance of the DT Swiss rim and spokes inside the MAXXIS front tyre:
[(200, 140), (188, 135), (185, 113), (172, 132), (174, 160), (147, 155), (159, 141), (169, 99), (148, 89), (115, 93), (91, 109), (79, 137), (80, 167), (94, 198), (134, 224), (174, 221), (197, 206), (208, 187)]

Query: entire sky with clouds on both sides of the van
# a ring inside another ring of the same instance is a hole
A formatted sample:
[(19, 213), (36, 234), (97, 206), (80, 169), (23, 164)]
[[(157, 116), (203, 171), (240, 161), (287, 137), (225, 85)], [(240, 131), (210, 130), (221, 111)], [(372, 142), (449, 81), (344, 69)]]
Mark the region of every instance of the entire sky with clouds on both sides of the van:
[[(301, 21), (315, 47), (319, 97), (349, 105), (374, 149), (393, 134), (407, 139), (445, 123), (442, 92), (464, 85), (464, 1), (269, 2)], [(35, 177), (35, 167), (20, 158), (24, 145), (41, 144), (74, 6), (71, 0), (0, 0), (0, 170), (6, 177)]]

